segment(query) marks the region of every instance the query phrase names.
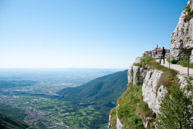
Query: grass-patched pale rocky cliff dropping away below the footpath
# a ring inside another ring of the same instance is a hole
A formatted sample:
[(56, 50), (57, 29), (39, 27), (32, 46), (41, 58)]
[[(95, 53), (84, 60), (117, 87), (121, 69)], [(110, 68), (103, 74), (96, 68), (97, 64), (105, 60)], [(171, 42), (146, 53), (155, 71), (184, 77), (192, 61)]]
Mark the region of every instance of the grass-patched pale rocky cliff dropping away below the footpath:
[(187, 77), (153, 58), (137, 58), (128, 70), (128, 88), (110, 112), (109, 129), (155, 128), (160, 104), (175, 80), (182, 88), (188, 84)]

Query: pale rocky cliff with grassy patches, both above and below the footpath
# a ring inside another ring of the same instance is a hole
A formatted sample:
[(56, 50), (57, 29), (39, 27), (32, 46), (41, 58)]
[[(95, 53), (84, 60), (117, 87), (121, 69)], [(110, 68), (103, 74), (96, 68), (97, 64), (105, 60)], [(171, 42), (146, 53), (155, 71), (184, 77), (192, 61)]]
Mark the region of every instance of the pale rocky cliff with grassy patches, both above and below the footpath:
[[(172, 34), (170, 52), (173, 59), (190, 55), (193, 62), (193, 0), (188, 1)], [(110, 112), (109, 129), (155, 128), (169, 88), (193, 84), (190, 78), (161, 66), (151, 56), (152, 51), (147, 51), (128, 70), (128, 87)]]

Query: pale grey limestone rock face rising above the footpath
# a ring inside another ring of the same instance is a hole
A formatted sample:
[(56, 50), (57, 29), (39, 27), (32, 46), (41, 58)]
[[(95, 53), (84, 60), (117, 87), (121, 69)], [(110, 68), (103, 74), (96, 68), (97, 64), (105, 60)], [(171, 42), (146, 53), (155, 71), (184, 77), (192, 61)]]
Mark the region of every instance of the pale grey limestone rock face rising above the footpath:
[[(193, 2), (188, 2), (190, 8), (193, 10)], [(177, 27), (172, 34), (171, 40), (171, 56), (179, 59), (183, 55), (191, 54), (193, 49), (193, 19), (185, 21), (185, 16), (188, 12), (183, 11), (179, 18)]]

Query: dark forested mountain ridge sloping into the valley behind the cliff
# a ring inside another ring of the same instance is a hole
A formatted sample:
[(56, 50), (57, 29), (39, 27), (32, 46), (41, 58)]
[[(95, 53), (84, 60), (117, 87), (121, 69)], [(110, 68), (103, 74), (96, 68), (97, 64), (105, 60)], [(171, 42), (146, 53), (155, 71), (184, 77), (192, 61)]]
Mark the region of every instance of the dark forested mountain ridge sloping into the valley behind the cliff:
[(58, 92), (61, 99), (113, 107), (127, 87), (127, 70), (94, 79), (79, 87)]

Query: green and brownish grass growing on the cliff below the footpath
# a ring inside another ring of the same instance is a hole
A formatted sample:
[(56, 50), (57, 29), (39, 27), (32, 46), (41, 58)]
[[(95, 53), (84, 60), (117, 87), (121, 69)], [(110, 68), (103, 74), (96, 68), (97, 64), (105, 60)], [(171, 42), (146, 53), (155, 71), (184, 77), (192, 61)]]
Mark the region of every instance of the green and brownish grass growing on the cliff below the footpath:
[[(170, 87), (177, 82), (177, 71), (164, 67), (157, 63), (152, 57), (144, 57), (140, 63), (134, 64), (144, 69), (157, 69), (162, 71), (162, 75), (158, 81), (157, 90), (161, 85)], [(138, 76), (138, 75), (137, 75)], [(143, 129), (143, 122), (148, 122), (147, 128), (155, 128), (155, 116), (151, 109), (149, 109), (147, 103), (143, 101), (142, 85), (133, 85), (130, 83), (126, 91), (118, 99), (119, 107), (117, 108), (117, 114), (121, 122), (123, 123), (123, 129)], [(116, 127), (116, 109), (111, 111), (111, 124)], [(150, 117), (150, 120), (146, 120), (145, 117)]]

